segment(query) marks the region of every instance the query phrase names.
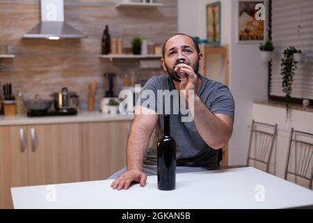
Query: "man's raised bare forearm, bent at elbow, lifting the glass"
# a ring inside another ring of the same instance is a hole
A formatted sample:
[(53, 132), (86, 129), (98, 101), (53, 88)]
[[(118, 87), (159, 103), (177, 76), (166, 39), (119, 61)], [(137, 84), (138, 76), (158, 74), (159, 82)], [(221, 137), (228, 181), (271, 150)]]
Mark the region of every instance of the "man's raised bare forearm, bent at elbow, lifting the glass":
[(232, 131), (204, 105), (198, 95), (195, 95), (194, 101), (194, 107), (190, 110), (193, 111), (193, 121), (200, 136), (211, 148), (223, 147), (230, 139)]

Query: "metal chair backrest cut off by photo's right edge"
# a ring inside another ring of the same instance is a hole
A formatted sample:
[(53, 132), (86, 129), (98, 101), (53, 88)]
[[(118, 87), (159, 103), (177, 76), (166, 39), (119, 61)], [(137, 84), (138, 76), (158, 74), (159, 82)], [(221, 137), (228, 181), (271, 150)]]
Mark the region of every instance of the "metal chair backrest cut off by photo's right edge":
[[(313, 134), (291, 128), (284, 178), (312, 190)], [(305, 183), (306, 182), (306, 183)]]

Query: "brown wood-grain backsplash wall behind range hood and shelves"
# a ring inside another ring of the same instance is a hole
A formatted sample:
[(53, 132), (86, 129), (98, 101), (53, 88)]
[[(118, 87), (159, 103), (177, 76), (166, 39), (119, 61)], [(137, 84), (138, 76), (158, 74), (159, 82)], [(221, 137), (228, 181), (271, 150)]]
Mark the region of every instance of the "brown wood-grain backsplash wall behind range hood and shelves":
[(24, 98), (42, 98), (67, 86), (80, 95), (80, 107), (88, 109), (88, 84), (97, 81), (96, 105), (108, 89), (104, 73), (113, 72), (118, 95), (127, 73), (132, 84), (144, 83), (159, 69), (140, 69), (138, 59), (100, 59), (101, 37), (109, 24), (112, 38), (123, 38), (123, 47), (131, 46), (134, 36), (145, 36), (154, 43), (163, 42), (177, 32), (177, 0), (159, 0), (161, 8), (115, 8), (120, 0), (97, 0), (90, 3), (65, 1), (65, 20), (88, 34), (81, 40), (23, 39), (40, 20), (39, 1), (0, 1), (0, 45), (7, 45), (15, 59), (4, 59), (0, 84), (10, 82), (13, 92), (22, 89)]

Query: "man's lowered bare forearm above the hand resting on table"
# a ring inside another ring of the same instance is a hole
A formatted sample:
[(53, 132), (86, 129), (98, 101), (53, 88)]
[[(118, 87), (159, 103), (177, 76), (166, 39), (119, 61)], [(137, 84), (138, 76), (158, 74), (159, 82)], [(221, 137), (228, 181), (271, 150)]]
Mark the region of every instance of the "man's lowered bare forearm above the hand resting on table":
[(131, 126), (131, 134), (127, 141), (127, 170), (143, 168), (143, 157), (149, 144), (150, 135), (147, 135), (146, 130), (138, 124)]

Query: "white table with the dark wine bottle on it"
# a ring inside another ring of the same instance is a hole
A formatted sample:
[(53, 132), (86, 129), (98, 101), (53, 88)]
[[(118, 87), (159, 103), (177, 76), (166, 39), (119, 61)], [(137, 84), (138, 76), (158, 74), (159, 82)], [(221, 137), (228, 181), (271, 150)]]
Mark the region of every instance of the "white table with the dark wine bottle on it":
[[(112, 190), (112, 180), (12, 188), (15, 208), (294, 208), (313, 191), (252, 167), (177, 174), (176, 190), (147, 185)], [(54, 199), (55, 198), (55, 199)]]

